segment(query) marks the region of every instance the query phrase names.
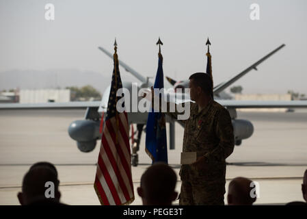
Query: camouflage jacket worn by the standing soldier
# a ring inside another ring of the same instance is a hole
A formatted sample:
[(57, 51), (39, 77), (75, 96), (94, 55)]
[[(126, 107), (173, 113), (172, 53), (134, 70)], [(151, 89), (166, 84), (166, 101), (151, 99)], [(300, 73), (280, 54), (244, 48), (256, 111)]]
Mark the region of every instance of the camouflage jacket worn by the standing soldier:
[[(235, 140), (228, 110), (211, 99), (198, 112), (198, 105), (190, 103), (190, 116), (185, 123), (183, 152), (196, 152), (203, 158), (201, 165), (182, 165), (181, 179), (202, 178), (206, 181), (225, 181), (225, 159), (232, 153)], [(174, 117), (176, 113), (168, 113)], [(203, 168), (202, 168), (202, 167)]]

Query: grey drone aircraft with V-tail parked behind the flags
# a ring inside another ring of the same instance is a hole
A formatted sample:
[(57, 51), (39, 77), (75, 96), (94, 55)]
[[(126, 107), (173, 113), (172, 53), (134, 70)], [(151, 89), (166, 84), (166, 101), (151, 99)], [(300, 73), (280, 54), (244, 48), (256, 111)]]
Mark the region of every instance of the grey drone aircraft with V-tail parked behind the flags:
[[(217, 86), (213, 88), (213, 95), (215, 101), (224, 105), (230, 116), (232, 118), (232, 125), (234, 127), (234, 136), (235, 136), (235, 145), (240, 145), (242, 140), (250, 138), (252, 133), (254, 132), (254, 127), (249, 120), (243, 120), (237, 118), (237, 108), (297, 108), (297, 107), (307, 107), (307, 101), (235, 101), (235, 100), (224, 100), (221, 99), (222, 92), (228, 88), (232, 83), (237, 81), (239, 78), (243, 77), (245, 74), (249, 73), (251, 70), (257, 70), (257, 66), (267, 60), (268, 57), (282, 49), (285, 45), (282, 44), (280, 47), (274, 49), (267, 55), (258, 60), (241, 73), (235, 75), (224, 81), (219, 83)], [(109, 53), (103, 47), (98, 47), (103, 53), (111, 57), (113, 59), (113, 54)], [(136, 70), (118, 60), (120, 66), (122, 66), (126, 71), (134, 75), (139, 81), (142, 82), (141, 86), (137, 86), (137, 89), (140, 88), (150, 88), (153, 84), (148, 80), (148, 78), (144, 77), (140, 73), (137, 73)], [(174, 81), (170, 77), (166, 77), (168, 81), (172, 84), (174, 90), (177, 88), (188, 88), (189, 81)], [(130, 91), (133, 87), (132, 82), (122, 81), (123, 88), (126, 88)], [(0, 110), (18, 110), (18, 109), (86, 109), (85, 117), (83, 120), (76, 120), (70, 124), (68, 127), (68, 133), (70, 138), (77, 141), (77, 146), (82, 152), (90, 152), (93, 151), (96, 146), (96, 141), (101, 139), (101, 118), (105, 118), (105, 112), (107, 112), (107, 103), (109, 100), (109, 92), (110, 86), (107, 87), (105, 92), (103, 93), (103, 98), (101, 101), (88, 101), (88, 102), (69, 102), (69, 103), (35, 103), (35, 104), (26, 104), (26, 103), (3, 103), (0, 104)], [(180, 103), (176, 100), (176, 95), (174, 93), (165, 93), (165, 96), (169, 95), (169, 100), (174, 103)], [(130, 96), (131, 99), (131, 96)], [(142, 97), (138, 98), (138, 101), (142, 99)], [(185, 101), (190, 101), (189, 99), (185, 99)], [(130, 108), (131, 109), (131, 108)], [(136, 124), (137, 131), (133, 131), (131, 138), (133, 141), (132, 145), (132, 165), (137, 166), (137, 151), (139, 151), (139, 142), (142, 136), (142, 131), (144, 131), (144, 125), (147, 122), (148, 112), (127, 112), (129, 118), (129, 125)], [(175, 148), (174, 143), (174, 123), (178, 122), (180, 125), (183, 125), (180, 120), (174, 120), (170, 118), (170, 116), (166, 116), (166, 122), (170, 123), (170, 149)], [(132, 126), (133, 127), (133, 126)], [(137, 133), (137, 135), (136, 135)], [(134, 136), (137, 136), (135, 139)]]

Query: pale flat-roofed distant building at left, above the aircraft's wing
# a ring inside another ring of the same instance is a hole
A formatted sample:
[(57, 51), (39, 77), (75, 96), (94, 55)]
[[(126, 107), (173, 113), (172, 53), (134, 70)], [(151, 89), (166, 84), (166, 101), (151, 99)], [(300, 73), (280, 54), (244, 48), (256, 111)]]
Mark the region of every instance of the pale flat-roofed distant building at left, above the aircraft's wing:
[(19, 92), (19, 103), (65, 103), (69, 101), (69, 89), (20, 90)]

